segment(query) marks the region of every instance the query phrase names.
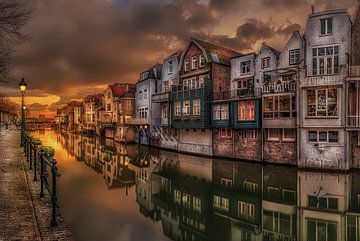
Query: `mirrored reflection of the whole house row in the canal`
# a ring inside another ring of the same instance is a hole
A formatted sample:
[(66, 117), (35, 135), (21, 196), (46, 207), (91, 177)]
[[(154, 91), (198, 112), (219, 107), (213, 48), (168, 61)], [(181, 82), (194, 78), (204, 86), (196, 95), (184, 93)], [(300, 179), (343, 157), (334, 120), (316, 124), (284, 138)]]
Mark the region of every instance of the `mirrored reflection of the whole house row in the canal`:
[(171, 240), (360, 240), (358, 172), (195, 157), (67, 133), (59, 142), (109, 189), (135, 189), (139, 212)]

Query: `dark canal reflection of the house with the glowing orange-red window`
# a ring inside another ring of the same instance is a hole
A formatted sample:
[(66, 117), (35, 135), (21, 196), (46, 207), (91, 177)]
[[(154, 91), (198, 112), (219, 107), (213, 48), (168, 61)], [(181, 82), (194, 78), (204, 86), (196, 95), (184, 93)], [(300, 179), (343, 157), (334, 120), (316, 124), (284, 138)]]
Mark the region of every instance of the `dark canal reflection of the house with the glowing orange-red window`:
[[(215, 240), (262, 240), (260, 165), (214, 160), (212, 210)], [(226, 225), (224, 225), (226, 224)]]

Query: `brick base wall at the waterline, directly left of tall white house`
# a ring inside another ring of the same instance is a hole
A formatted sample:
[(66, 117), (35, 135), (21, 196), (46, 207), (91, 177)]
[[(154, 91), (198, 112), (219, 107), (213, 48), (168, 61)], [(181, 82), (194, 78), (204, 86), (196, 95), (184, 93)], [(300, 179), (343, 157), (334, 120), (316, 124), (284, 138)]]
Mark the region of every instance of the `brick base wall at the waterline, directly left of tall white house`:
[(296, 143), (265, 141), (264, 161), (296, 165)]

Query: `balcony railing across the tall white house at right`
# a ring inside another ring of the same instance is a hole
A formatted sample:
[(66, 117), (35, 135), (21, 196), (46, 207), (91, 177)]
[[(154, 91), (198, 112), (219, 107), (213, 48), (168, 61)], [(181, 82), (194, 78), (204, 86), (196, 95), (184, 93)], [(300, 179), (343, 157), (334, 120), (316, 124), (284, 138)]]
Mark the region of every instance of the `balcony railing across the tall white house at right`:
[(305, 81), (301, 82), (301, 87), (315, 87), (324, 85), (342, 85), (346, 77), (345, 68), (328, 69), (323, 74), (313, 75), (312, 71), (308, 71)]

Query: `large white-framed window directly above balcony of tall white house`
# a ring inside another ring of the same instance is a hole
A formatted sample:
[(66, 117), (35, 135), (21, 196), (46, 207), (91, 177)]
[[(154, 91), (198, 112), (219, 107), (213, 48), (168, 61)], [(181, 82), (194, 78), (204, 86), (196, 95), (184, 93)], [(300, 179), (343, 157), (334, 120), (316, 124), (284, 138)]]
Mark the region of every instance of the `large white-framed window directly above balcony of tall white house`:
[(313, 48), (312, 74), (331, 75), (339, 73), (339, 46)]

